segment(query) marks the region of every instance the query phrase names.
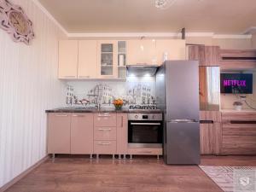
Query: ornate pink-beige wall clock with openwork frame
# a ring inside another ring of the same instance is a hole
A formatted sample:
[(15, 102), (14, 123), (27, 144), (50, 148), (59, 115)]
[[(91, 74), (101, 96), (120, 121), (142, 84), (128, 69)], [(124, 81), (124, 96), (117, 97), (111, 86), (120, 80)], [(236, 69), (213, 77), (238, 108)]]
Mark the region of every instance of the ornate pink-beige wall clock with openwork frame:
[(8, 32), (15, 42), (30, 44), (34, 38), (32, 21), (20, 6), (10, 3), (9, 0), (0, 0), (0, 22), (0, 27)]

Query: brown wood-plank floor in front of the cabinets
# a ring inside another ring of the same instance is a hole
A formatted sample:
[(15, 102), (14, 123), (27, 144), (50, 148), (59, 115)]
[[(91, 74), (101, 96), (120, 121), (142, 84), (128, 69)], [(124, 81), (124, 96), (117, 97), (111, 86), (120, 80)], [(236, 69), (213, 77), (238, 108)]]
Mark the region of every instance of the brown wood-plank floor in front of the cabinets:
[[(256, 156), (204, 156), (204, 166), (256, 166)], [(166, 166), (156, 158), (57, 157), (8, 192), (221, 192), (198, 166)]]

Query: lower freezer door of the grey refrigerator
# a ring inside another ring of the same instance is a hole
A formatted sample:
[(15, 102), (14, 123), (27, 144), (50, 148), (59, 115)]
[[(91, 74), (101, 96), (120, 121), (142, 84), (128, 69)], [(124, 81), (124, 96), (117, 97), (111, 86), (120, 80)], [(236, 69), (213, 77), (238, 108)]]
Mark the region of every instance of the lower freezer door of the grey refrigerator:
[(166, 123), (166, 164), (200, 164), (200, 125), (195, 123)]

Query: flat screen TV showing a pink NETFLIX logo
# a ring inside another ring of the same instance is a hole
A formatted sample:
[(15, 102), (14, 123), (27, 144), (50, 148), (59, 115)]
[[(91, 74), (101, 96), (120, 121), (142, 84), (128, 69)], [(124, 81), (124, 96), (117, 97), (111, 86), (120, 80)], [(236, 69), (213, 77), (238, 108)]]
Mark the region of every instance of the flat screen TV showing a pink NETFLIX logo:
[(220, 92), (233, 94), (253, 94), (253, 74), (221, 73)]

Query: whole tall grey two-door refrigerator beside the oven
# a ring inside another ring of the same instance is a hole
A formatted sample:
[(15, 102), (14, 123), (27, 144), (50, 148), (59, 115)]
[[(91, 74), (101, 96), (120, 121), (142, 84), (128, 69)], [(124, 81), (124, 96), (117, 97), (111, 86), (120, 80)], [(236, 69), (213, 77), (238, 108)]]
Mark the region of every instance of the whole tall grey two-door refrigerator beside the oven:
[(156, 74), (158, 107), (164, 111), (166, 164), (200, 163), (198, 61), (166, 61)]

